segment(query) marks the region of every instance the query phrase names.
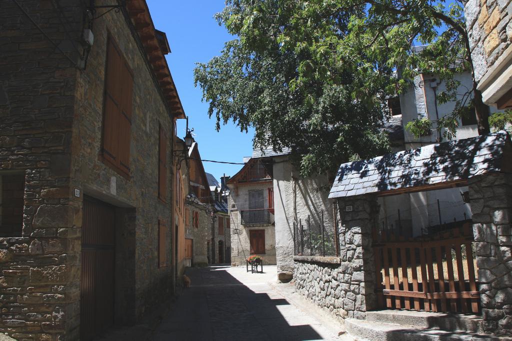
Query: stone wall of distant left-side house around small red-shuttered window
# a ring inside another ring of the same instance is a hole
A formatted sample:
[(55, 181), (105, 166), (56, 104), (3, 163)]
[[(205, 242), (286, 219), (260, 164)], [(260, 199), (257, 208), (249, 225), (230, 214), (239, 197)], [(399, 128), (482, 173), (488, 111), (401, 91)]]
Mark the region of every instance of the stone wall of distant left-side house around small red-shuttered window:
[[(205, 204), (192, 202), (187, 200), (185, 207), (190, 212), (189, 225), (185, 226), (185, 238), (194, 240), (194, 265), (207, 265), (208, 259), (208, 242), (211, 242), (211, 218), (210, 210)], [(192, 225), (193, 212), (199, 212), (199, 228)]]

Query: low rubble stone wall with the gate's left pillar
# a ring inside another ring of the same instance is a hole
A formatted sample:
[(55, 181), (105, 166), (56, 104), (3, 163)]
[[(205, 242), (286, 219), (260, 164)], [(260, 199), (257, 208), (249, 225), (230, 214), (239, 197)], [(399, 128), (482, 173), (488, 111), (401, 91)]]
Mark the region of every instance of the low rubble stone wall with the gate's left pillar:
[[(346, 206), (353, 211), (346, 212)], [(371, 229), (377, 201), (361, 195), (338, 199), (340, 257), (294, 257), (295, 289), (338, 317), (364, 319), (376, 307)]]

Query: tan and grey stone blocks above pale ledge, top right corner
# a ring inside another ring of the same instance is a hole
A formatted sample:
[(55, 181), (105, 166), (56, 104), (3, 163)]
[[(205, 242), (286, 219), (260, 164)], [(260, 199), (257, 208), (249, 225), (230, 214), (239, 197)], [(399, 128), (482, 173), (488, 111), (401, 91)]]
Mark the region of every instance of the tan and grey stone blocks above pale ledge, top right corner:
[(464, 14), (479, 82), (510, 47), (512, 4), (509, 0), (468, 0)]

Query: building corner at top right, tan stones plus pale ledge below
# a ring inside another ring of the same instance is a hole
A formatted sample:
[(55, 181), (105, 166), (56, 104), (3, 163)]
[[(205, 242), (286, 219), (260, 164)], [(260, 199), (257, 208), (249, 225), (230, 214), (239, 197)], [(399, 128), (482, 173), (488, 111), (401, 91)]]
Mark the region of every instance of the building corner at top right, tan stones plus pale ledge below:
[(467, 34), (477, 88), (484, 103), (512, 107), (512, 4), (503, 0), (468, 0)]

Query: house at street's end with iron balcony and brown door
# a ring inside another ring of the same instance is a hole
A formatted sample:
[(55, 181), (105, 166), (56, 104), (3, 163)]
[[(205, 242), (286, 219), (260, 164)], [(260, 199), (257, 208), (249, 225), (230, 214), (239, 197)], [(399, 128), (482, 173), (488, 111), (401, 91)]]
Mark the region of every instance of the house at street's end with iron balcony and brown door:
[(274, 265), (275, 227), (272, 165), (251, 158), (226, 181), (231, 228), (231, 265), (245, 265), (251, 255)]

